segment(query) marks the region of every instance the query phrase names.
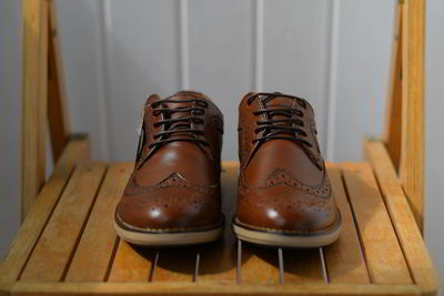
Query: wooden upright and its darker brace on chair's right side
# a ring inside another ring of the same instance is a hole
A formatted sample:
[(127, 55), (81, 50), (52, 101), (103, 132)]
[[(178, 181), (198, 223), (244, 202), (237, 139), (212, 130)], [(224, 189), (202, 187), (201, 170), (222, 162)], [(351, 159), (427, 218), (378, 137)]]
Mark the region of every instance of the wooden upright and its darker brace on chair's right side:
[(425, 0), (396, 3), (384, 141), (424, 232)]

